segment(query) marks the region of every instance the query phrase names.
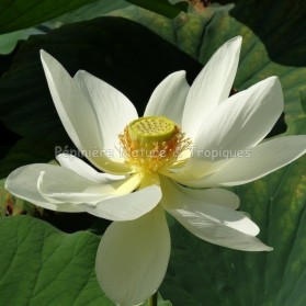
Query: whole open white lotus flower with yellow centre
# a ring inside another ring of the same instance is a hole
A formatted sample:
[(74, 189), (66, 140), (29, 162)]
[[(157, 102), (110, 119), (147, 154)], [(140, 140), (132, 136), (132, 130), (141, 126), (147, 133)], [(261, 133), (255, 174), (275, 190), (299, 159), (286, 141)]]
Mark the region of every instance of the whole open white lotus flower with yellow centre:
[(42, 52), (67, 133), (103, 172), (60, 154), (60, 166), (21, 167), (5, 186), (45, 208), (114, 220), (98, 249), (97, 276), (118, 305), (147, 299), (165, 276), (170, 256), (165, 211), (212, 243), (271, 250), (256, 238), (258, 226), (236, 211), (238, 196), (220, 186), (251, 182), (290, 163), (305, 152), (306, 136), (263, 141), (284, 106), (275, 77), (228, 98), (240, 46), (241, 37), (224, 44), (192, 87), (184, 71), (168, 76), (140, 118), (115, 88), (86, 71), (70, 78)]

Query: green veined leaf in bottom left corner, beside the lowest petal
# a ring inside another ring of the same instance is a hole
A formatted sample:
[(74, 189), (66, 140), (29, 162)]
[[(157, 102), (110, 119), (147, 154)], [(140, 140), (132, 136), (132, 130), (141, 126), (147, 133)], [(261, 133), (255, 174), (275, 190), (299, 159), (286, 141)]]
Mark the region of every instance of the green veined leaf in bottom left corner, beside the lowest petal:
[[(97, 236), (64, 234), (27, 216), (0, 218), (0, 233), (3, 305), (114, 306), (95, 279)], [(161, 297), (158, 305), (171, 306)]]

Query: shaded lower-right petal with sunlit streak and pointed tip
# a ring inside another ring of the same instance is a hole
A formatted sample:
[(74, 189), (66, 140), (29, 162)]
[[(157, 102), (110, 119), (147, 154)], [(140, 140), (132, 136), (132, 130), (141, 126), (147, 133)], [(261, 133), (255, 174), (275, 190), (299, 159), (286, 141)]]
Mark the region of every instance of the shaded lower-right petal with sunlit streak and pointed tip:
[[(162, 206), (195, 236), (219, 246), (246, 250), (262, 251), (271, 248), (261, 243), (256, 235), (258, 226), (245, 214), (236, 212), (230, 205), (218, 205), (212, 195), (207, 200), (191, 196), (186, 188), (163, 179)], [(209, 194), (209, 191), (207, 191)], [(204, 193), (203, 193), (204, 195)], [(226, 201), (226, 199), (224, 199)], [(228, 202), (233, 199), (228, 197)]]

